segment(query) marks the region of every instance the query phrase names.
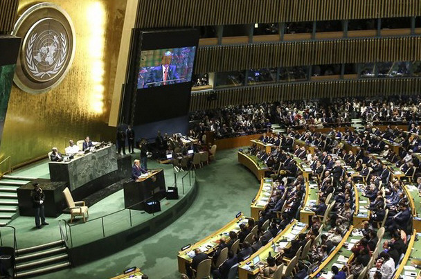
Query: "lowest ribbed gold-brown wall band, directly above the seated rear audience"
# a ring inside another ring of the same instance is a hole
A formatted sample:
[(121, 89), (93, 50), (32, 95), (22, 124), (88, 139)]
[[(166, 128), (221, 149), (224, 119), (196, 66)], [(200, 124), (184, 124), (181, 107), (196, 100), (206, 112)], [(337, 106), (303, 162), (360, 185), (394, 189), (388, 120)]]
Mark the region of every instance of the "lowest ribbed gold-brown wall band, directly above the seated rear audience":
[[(228, 105), (247, 105), (280, 100), (303, 100), (311, 98), (338, 98), (350, 96), (389, 96), (394, 94), (418, 94), (420, 78), (384, 78), (369, 80), (336, 80), (323, 82), (300, 82), (268, 84), (256, 87), (240, 87), (192, 94), (190, 111), (217, 109)], [(217, 100), (208, 101), (211, 93)]]

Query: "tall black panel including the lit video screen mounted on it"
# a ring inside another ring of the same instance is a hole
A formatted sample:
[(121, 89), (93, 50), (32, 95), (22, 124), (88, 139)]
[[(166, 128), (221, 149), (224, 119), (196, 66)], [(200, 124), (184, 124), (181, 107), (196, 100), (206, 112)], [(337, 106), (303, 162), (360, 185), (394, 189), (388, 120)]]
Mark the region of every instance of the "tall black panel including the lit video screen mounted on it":
[(133, 37), (121, 119), (141, 125), (186, 116), (199, 31), (135, 29)]

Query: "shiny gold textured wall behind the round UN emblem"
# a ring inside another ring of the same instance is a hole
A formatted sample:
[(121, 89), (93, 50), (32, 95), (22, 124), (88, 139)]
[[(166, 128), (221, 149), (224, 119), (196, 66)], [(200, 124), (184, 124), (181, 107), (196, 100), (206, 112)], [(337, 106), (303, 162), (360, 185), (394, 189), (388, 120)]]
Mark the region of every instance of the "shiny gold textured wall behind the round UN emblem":
[[(75, 58), (60, 85), (41, 94), (12, 87), (1, 139), (0, 159), (12, 165), (46, 156), (51, 147), (64, 152), (69, 138), (115, 141), (108, 127), (118, 51), (127, 0), (52, 0), (73, 20)], [(39, 1), (21, 0), (18, 15)]]

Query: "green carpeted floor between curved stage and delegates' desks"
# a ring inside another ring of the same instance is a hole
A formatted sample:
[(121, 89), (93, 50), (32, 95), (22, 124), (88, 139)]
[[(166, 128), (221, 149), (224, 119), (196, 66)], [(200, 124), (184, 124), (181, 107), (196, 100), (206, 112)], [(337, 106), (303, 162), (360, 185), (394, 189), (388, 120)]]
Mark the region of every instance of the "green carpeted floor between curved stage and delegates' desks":
[(256, 177), (237, 162), (237, 149), (216, 155), (217, 161), (197, 170), (193, 204), (163, 231), (115, 255), (37, 278), (110, 278), (134, 266), (150, 278), (179, 278), (177, 251), (217, 231), (239, 211), (249, 216), (250, 202), (258, 192)]

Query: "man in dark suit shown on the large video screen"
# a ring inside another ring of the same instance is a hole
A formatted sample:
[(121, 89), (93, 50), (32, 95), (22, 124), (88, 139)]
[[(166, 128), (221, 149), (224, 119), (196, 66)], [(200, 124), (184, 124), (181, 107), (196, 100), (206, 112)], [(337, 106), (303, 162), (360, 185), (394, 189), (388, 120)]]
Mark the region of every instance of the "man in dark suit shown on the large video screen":
[(181, 82), (175, 65), (171, 65), (172, 53), (167, 51), (161, 58), (161, 65), (150, 70), (145, 87), (155, 87)]

